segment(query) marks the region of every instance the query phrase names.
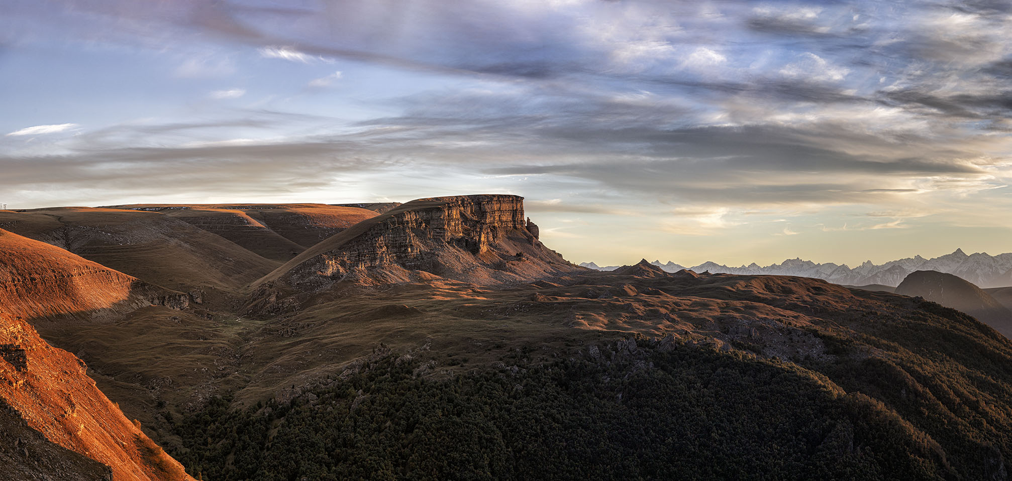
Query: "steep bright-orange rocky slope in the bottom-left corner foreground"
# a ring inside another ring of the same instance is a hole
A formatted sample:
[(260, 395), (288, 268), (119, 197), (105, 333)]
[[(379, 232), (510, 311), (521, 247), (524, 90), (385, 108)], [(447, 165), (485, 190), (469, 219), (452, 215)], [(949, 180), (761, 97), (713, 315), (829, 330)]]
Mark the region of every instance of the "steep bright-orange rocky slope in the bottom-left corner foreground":
[[(0, 347), (0, 405), (8, 407), (0, 422), (22, 430), (24, 424), (45, 438), (25, 432), (0, 447), (0, 460), (11, 460), (14, 468), (41, 470), (13, 479), (47, 479), (36, 476), (41, 474), (109, 479), (98, 463), (111, 468), (116, 481), (192, 479), (95, 387), (87, 367), (72, 354), (47, 344), (24, 321), (2, 315)], [(33, 458), (61, 453), (50, 443), (97, 463), (68, 454)]]

